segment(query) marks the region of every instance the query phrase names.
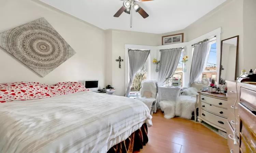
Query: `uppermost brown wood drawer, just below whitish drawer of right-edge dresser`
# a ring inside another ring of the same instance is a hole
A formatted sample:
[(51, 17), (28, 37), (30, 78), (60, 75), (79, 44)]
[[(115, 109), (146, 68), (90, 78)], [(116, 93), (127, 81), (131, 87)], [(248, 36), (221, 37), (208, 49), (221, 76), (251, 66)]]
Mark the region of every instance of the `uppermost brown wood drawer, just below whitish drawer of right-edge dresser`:
[(243, 125), (249, 128), (254, 135), (256, 135), (256, 115), (254, 115), (249, 109), (244, 105), (239, 103), (238, 105), (238, 115), (243, 122)]

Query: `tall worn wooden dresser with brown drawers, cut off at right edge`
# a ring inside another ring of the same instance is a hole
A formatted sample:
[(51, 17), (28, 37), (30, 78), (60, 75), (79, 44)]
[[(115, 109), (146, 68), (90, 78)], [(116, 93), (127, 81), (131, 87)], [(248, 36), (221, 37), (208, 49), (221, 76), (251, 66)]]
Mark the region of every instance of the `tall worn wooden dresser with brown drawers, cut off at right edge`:
[[(228, 84), (228, 120), (226, 131), (231, 153), (256, 153), (256, 85), (238, 83), (238, 103), (236, 101), (235, 81)], [(234, 116), (235, 112), (235, 116)], [(236, 120), (236, 125), (234, 123)], [(237, 128), (239, 145), (234, 145), (233, 131)]]

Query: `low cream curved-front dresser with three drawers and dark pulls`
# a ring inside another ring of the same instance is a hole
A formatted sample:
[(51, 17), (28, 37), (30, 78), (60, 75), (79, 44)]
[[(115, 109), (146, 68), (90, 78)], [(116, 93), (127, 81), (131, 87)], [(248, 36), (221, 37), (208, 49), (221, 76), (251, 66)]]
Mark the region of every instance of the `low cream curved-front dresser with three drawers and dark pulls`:
[(198, 121), (206, 122), (226, 132), (228, 118), (227, 97), (224, 94), (198, 91)]

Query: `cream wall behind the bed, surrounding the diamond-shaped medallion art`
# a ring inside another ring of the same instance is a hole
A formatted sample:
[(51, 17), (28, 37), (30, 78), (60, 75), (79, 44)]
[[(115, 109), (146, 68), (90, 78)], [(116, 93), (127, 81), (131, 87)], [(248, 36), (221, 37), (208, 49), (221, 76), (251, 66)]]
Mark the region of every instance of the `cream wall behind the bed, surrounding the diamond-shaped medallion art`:
[(0, 83), (98, 79), (105, 86), (105, 32), (87, 22), (37, 0), (0, 0), (0, 32), (44, 17), (76, 51), (76, 54), (44, 78), (0, 48)]

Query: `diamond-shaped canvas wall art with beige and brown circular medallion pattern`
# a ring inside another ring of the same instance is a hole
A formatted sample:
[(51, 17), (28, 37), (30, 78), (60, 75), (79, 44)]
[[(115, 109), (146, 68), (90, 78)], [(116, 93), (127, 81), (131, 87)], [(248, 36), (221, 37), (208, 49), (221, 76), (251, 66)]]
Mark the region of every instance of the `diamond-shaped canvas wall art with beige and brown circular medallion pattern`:
[(0, 47), (42, 77), (76, 53), (45, 18), (0, 33)]

